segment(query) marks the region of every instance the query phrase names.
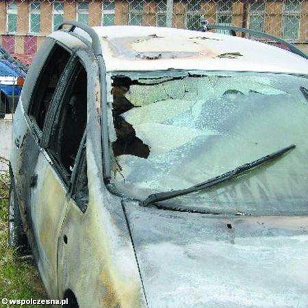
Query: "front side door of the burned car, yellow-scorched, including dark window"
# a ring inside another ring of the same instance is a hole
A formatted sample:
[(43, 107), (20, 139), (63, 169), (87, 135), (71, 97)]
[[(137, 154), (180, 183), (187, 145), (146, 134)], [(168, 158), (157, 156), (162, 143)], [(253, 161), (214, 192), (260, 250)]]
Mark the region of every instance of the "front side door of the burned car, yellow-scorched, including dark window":
[(49, 296), (57, 297), (57, 241), (66, 215), (70, 177), (86, 130), (87, 70), (77, 55), (57, 87), (47, 112), (42, 150), (34, 168), (31, 211), (38, 267)]

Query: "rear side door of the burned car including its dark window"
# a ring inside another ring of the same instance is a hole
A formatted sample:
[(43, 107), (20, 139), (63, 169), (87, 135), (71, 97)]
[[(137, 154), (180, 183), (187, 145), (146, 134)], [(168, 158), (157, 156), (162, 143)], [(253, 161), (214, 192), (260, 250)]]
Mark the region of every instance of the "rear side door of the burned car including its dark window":
[(47, 110), (73, 52), (47, 38), (29, 69), (13, 125), (11, 152), (16, 197), (34, 257), (38, 259), (31, 211), (31, 191), (36, 186), (34, 168), (41, 151), (42, 131)]

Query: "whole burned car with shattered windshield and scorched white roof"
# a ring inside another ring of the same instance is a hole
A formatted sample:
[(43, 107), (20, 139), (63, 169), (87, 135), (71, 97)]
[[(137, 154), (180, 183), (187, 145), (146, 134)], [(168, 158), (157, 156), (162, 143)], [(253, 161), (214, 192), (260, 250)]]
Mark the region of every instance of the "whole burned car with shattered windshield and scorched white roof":
[(10, 242), (27, 239), (49, 296), (306, 307), (307, 59), (224, 34), (69, 25), (29, 69), (10, 168)]

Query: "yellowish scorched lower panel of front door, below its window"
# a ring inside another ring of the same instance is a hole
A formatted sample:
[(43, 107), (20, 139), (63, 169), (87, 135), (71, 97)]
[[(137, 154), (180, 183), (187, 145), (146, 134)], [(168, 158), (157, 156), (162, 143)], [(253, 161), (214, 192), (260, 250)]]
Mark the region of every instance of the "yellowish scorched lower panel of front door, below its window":
[(31, 187), (31, 220), (38, 247), (38, 268), (47, 292), (57, 298), (57, 239), (66, 214), (66, 188), (40, 151), (35, 168), (37, 183)]

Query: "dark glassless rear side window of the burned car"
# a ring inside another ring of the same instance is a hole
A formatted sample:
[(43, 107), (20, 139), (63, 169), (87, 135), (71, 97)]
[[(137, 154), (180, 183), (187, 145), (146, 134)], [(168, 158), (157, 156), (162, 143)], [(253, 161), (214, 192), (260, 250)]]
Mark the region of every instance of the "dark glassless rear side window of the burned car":
[(44, 127), (44, 120), (53, 99), (55, 88), (69, 60), (70, 53), (60, 45), (55, 44), (40, 71), (31, 95), (29, 115), (34, 118), (41, 130)]

